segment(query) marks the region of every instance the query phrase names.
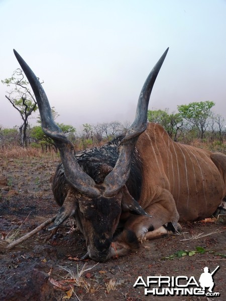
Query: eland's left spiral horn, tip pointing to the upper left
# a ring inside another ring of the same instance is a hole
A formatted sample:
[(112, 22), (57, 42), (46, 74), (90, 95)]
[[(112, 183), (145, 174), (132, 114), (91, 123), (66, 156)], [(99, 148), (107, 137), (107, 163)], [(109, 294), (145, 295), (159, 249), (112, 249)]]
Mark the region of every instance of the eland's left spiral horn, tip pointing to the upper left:
[(16, 50), (14, 50), (14, 54), (35, 94), (41, 116), (42, 129), (47, 136), (54, 140), (59, 149), (67, 181), (80, 193), (88, 197), (98, 197), (100, 192), (95, 187), (94, 180), (80, 168), (74, 157), (73, 144), (55, 123), (48, 98), (37, 76)]

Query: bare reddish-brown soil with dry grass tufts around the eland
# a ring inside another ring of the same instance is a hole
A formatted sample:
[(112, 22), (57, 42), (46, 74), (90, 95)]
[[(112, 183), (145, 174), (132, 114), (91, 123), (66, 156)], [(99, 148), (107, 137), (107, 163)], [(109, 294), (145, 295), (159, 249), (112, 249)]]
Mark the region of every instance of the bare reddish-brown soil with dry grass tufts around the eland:
[[(53, 240), (46, 241), (50, 233), (43, 229), (6, 251), (10, 241), (57, 213), (50, 178), (58, 162), (56, 157), (0, 158), (0, 300), (226, 300), (226, 227), (219, 220), (182, 224), (181, 235), (147, 241), (139, 251), (106, 263), (80, 260), (86, 246), (73, 220)], [(205, 251), (195, 252), (198, 246)], [(143, 286), (133, 286), (138, 276), (198, 281), (205, 266), (213, 271), (218, 265), (213, 276), (218, 297), (147, 297)]]

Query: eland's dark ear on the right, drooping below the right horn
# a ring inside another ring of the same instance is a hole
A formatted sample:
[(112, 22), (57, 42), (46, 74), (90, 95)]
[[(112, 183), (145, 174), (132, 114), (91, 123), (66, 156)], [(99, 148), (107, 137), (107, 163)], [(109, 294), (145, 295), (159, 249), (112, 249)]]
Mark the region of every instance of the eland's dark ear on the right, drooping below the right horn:
[(124, 212), (130, 212), (136, 215), (144, 215), (144, 216), (152, 217), (132, 197), (132, 195), (129, 193), (126, 186), (123, 187), (123, 198), (121, 204), (122, 204), (122, 210)]

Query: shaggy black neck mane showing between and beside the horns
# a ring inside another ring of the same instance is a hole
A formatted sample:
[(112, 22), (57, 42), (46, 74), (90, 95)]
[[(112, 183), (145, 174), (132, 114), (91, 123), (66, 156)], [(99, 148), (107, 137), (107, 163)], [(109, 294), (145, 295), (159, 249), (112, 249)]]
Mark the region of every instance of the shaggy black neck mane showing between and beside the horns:
[[(75, 154), (75, 158), (79, 166), (95, 181), (95, 183), (102, 183), (106, 175), (115, 167), (119, 157), (118, 146), (124, 136), (125, 134), (119, 135), (101, 147), (88, 148)], [(58, 189), (56, 190), (54, 188), (53, 183), (53, 193), (57, 203), (62, 204), (66, 196), (63, 192), (63, 187), (65, 187), (65, 185), (69, 185), (65, 179), (64, 167), (62, 163), (58, 166), (54, 178), (54, 183), (58, 183)], [(136, 200), (139, 200), (140, 198), (141, 184), (142, 162), (135, 149), (131, 162), (130, 177), (126, 183), (126, 186), (130, 194)]]

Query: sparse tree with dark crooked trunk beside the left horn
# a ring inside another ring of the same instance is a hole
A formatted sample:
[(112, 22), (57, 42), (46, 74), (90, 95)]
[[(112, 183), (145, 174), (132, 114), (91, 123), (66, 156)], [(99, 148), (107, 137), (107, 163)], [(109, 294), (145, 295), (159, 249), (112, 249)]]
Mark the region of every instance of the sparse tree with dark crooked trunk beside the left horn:
[(20, 126), (21, 145), (27, 146), (28, 118), (38, 108), (35, 97), (31, 93), (29, 82), (24, 78), (23, 71), (20, 68), (14, 71), (12, 77), (2, 80), (2, 83), (8, 87), (14, 86), (10, 92), (7, 91), (5, 96), (21, 115), (23, 120)]

